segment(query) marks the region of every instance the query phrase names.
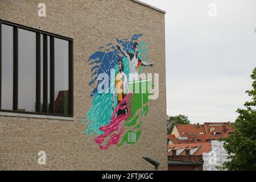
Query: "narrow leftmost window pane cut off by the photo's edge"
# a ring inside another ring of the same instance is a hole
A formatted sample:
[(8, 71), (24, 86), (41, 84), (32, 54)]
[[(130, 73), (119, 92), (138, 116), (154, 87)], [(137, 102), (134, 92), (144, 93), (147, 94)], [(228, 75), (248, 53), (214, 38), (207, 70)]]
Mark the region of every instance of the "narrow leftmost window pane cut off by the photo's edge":
[(2, 24), (2, 109), (13, 110), (13, 27)]

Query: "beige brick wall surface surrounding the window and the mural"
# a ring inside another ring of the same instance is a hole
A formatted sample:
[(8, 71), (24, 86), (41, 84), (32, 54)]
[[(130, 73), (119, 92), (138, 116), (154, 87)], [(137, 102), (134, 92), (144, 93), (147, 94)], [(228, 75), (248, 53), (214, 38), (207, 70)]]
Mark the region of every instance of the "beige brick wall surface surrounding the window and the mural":
[[(159, 160), (159, 168), (167, 170), (164, 14), (130, 0), (44, 0), (47, 14), (39, 17), (38, 3), (2, 0), (0, 19), (73, 38), (75, 121), (0, 116), (0, 170), (154, 169), (142, 155)], [(81, 121), (92, 105), (87, 60), (98, 47), (138, 33), (149, 43), (155, 63), (144, 72), (159, 73), (159, 98), (149, 101), (136, 144), (100, 150), (96, 136), (82, 135)], [(46, 165), (38, 164), (39, 151), (46, 151)]]

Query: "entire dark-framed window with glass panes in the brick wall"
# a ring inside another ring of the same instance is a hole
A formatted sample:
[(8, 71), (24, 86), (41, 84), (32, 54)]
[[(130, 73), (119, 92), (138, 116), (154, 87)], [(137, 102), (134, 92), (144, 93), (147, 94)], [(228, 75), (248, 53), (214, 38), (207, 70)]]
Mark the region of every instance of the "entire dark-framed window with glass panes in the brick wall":
[(73, 115), (71, 39), (0, 21), (0, 109)]

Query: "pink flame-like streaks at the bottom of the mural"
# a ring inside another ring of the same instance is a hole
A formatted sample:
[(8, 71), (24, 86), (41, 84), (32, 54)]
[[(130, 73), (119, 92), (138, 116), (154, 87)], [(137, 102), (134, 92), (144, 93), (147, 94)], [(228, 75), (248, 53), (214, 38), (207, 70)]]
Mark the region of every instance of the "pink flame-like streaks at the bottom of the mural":
[[(119, 104), (117, 105), (117, 107), (115, 107), (115, 109), (113, 111), (110, 123), (108, 125), (102, 126), (100, 128), (101, 131), (104, 131), (104, 134), (101, 134), (100, 136), (98, 136), (97, 138), (94, 139), (96, 143), (101, 144), (106, 137), (108, 137), (109, 135), (114, 133), (114, 131), (118, 131), (119, 126), (121, 125), (121, 123), (131, 116), (131, 105), (133, 104), (132, 101), (130, 102), (127, 114), (121, 114), (121, 115), (118, 115), (116, 117), (117, 112), (118, 112), (119, 109), (122, 109), (122, 110), (127, 109), (128, 102), (132, 98), (133, 98), (133, 94), (129, 93), (125, 98), (123, 98), (123, 100), (121, 102), (119, 102)], [(117, 145), (118, 141), (119, 141), (119, 138), (122, 135), (122, 133), (123, 133), (123, 127), (121, 128), (121, 130), (119, 131), (118, 134), (113, 134), (110, 137), (110, 140), (109, 140), (108, 144), (106, 144), (106, 146), (101, 146), (100, 145), (100, 148), (103, 149), (103, 150), (106, 150), (112, 144)]]

